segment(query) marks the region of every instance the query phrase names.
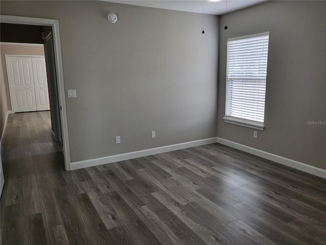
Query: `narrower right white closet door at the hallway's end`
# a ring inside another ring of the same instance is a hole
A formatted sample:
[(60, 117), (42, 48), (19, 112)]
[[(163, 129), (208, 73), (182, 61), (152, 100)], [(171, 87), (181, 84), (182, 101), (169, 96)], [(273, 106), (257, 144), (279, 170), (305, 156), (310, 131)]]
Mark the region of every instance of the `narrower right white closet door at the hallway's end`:
[(50, 109), (44, 57), (32, 57), (37, 111)]

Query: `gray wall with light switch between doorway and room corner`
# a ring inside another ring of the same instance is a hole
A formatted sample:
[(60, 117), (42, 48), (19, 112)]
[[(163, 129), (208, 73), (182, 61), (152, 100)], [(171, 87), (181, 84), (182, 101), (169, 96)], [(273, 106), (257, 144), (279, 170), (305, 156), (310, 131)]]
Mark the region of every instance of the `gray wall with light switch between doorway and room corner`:
[(72, 162), (216, 137), (218, 16), (203, 35), (201, 14), (98, 1), (2, 1), (1, 14), (59, 20)]

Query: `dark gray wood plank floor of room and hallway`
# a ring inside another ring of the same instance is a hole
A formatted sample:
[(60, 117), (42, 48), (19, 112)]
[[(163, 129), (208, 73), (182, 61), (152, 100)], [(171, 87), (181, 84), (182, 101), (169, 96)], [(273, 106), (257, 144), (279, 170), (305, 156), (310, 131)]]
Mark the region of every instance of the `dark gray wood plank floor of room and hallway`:
[(49, 112), (11, 114), (2, 244), (326, 244), (326, 180), (221, 144), (65, 171)]

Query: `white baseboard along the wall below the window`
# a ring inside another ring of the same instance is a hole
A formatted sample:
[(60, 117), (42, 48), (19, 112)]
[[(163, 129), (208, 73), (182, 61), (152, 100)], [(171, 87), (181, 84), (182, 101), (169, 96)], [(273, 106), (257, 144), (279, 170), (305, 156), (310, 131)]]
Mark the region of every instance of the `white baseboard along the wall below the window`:
[(314, 166), (308, 165), (303, 162), (298, 162), (298, 161), (291, 160), (291, 159), (281, 157), (281, 156), (278, 156), (275, 154), (271, 154), (268, 152), (264, 152), (264, 151), (252, 148), (250, 146), (239, 144), (239, 143), (227, 140), (227, 139), (218, 137), (217, 142), (220, 144), (230, 146), (234, 149), (237, 149), (237, 150), (240, 150), (243, 152), (247, 152), (247, 153), (253, 154), (255, 156), (259, 156), (259, 157), (262, 157), (262, 158), (265, 158), (265, 159), (268, 159), (268, 160), (271, 160), (271, 161), (274, 161), (277, 163), (281, 163), (283, 165), (304, 171), (308, 174), (312, 174), (312, 175), (326, 179), (326, 170), (325, 169), (314, 167)]

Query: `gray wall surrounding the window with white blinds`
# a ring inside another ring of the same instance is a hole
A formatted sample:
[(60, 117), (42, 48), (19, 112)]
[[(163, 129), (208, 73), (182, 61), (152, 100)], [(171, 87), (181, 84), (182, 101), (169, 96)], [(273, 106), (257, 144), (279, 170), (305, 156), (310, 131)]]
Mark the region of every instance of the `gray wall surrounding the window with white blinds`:
[[(326, 169), (326, 2), (270, 1), (220, 24), (218, 137)], [(265, 129), (227, 124), (227, 38), (269, 31)]]

